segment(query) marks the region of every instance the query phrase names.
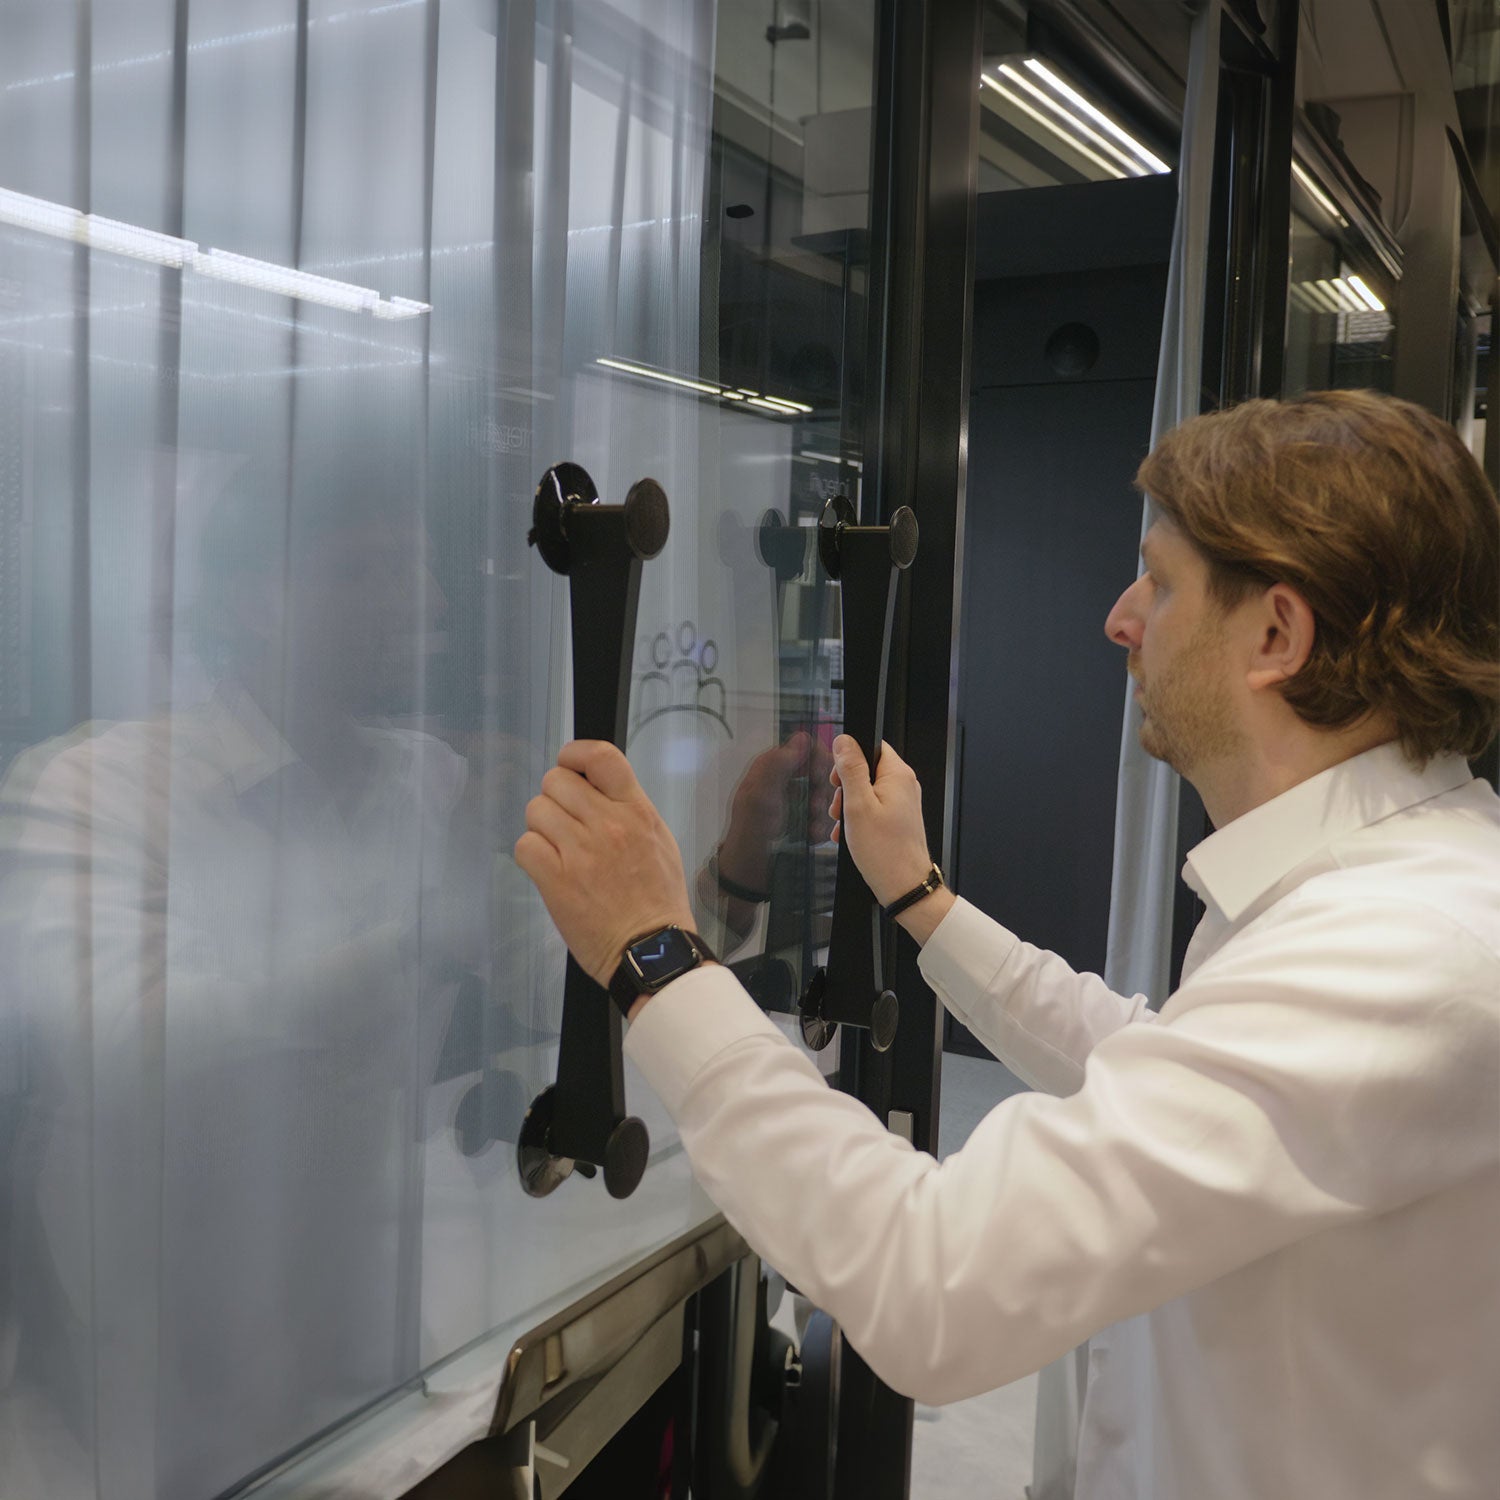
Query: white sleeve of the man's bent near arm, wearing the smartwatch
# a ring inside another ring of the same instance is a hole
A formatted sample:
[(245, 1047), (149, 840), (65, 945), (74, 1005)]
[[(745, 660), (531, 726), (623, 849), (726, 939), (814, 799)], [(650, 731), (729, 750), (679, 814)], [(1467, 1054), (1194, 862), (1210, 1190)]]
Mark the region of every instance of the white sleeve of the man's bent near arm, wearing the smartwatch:
[(1494, 1168), (1494, 954), (1395, 904), (1234, 950), (1101, 1041), (1071, 1096), (1004, 1101), (942, 1164), (830, 1090), (723, 969), (652, 999), (627, 1052), (750, 1245), (882, 1380), (956, 1401)]

